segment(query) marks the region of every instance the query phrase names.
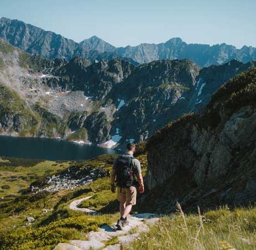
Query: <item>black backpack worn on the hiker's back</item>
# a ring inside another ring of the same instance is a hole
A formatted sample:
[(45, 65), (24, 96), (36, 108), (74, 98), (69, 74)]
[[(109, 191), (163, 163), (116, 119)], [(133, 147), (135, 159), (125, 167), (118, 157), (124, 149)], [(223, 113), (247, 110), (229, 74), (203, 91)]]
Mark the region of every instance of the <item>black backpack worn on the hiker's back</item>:
[(116, 182), (121, 188), (131, 187), (134, 183), (134, 171), (132, 169), (132, 159), (135, 157), (120, 156), (116, 160)]

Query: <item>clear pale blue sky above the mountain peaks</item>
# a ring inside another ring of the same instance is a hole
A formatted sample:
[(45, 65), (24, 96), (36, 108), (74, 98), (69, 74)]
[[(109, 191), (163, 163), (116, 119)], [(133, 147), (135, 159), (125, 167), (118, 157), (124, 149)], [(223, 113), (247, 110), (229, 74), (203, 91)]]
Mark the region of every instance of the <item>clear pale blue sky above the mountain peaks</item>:
[(256, 0), (0, 0), (0, 17), (19, 19), (76, 42), (114, 46), (228, 43), (256, 47)]

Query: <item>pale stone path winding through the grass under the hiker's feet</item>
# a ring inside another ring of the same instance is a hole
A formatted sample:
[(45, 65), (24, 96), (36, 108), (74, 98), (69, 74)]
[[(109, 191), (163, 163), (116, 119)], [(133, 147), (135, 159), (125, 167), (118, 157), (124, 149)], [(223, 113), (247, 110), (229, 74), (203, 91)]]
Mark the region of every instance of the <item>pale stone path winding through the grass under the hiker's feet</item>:
[[(90, 199), (91, 196), (77, 199), (70, 204), (70, 209), (76, 211), (82, 211), (86, 213), (95, 213), (91, 209), (78, 208), (85, 199)], [(83, 209), (83, 210), (81, 210)], [(129, 224), (123, 228), (122, 231), (115, 230), (115, 223), (112, 226), (104, 225), (98, 228), (97, 232), (91, 231), (87, 233), (87, 240), (80, 241), (73, 239), (68, 243), (58, 243), (53, 250), (87, 250), (87, 249), (104, 249), (104, 250), (119, 250), (121, 246), (125, 246), (135, 239), (139, 238), (141, 232), (149, 230), (149, 225), (155, 224), (159, 221), (156, 214), (152, 213), (141, 213), (136, 216), (130, 216), (127, 218)], [(130, 231), (132, 230), (133, 233)], [(115, 244), (108, 244), (111, 239), (116, 238)]]

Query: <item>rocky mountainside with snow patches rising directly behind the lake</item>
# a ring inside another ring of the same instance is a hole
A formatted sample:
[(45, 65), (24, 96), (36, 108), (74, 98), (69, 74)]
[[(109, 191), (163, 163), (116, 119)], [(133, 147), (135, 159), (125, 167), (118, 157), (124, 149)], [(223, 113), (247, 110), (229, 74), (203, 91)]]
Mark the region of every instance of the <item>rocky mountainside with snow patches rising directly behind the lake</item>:
[(219, 87), (256, 65), (235, 60), (206, 68), (189, 59), (139, 66), (124, 59), (48, 60), (1, 39), (0, 62), (2, 134), (104, 147), (148, 139), (183, 114), (202, 112)]

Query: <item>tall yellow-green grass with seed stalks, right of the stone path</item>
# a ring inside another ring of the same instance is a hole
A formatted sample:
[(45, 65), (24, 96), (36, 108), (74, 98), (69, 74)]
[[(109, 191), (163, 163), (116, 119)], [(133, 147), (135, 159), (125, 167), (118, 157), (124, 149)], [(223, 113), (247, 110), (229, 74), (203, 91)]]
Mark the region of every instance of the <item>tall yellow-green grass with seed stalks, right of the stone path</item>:
[(226, 207), (201, 216), (181, 211), (163, 217), (125, 249), (255, 249), (255, 207), (234, 211)]

